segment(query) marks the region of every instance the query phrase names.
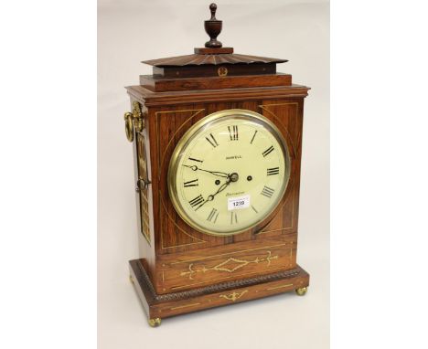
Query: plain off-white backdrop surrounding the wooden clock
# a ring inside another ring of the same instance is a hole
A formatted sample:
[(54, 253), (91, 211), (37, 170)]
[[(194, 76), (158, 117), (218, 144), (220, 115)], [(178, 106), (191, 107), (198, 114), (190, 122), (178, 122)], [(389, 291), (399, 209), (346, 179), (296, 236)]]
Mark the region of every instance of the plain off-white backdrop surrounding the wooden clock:
[(312, 88), (305, 99), (297, 262), (311, 274), (294, 293), (147, 325), (128, 280), (138, 257), (132, 145), (125, 138), (127, 85), (141, 60), (193, 53), (208, 37), (209, 1), (99, 0), (98, 341), (116, 348), (329, 347), (329, 3), (218, 1), (219, 40), (236, 53), (289, 59), (278, 70)]

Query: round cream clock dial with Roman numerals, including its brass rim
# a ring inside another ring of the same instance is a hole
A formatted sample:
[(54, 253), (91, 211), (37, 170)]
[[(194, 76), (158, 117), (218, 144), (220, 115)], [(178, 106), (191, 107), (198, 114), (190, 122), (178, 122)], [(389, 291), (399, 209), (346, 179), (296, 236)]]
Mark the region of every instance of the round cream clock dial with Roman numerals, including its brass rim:
[(219, 111), (193, 125), (177, 144), (168, 189), (190, 226), (231, 235), (273, 212), (289, 176), (288, 151), (272, 122), (253, 111)]

